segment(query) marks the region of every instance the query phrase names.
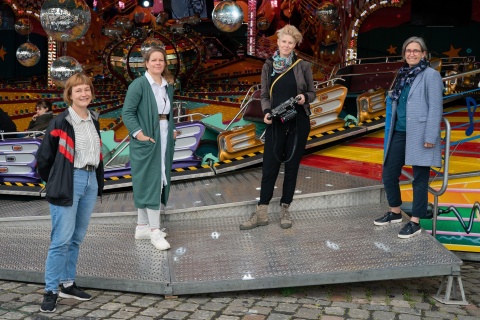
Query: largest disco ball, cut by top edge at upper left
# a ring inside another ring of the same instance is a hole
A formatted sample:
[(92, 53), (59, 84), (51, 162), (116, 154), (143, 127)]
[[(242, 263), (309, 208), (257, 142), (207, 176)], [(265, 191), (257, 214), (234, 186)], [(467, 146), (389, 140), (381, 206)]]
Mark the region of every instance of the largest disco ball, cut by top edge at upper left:
[(75, 41), (90, 27), (90, 9), (84, 0), (46, 0), (40, 10), (40, 23), (57, 41)]

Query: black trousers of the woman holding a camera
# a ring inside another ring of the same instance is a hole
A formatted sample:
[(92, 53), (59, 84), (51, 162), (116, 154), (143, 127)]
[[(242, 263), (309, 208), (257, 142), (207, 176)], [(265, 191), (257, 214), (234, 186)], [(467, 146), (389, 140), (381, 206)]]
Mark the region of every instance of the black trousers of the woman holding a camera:
[(298, 168), (305, 151), (309, 132), (310, 119), (303, 110), (299, 111), (297, 116), (287, 123), (274, 120), (274, 123), (267, 127), (263, 152), (262, 184), (258, 204), (270, 203), (281, 161), (288, 159), (290, 160), (285, 163), (280, 203), (290, 204), (292, 202), (297, 185)]

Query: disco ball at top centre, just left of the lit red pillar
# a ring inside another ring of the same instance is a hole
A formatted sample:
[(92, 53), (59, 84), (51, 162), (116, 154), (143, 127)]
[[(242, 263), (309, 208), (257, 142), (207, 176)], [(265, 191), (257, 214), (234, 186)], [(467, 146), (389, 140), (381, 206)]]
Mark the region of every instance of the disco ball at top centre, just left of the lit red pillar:
[(242, 25), (243, 10), (235, 1), (219, 2), (213, 9), (212, 21), (215, 27), (221, 31), (236, 31)]

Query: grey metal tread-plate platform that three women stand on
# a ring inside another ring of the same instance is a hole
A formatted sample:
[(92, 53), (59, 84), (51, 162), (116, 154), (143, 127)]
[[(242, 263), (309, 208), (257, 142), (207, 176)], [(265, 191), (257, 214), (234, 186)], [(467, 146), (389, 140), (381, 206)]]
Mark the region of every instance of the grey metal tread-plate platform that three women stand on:
[[(164, 252), (134, 239), (131, 192), (106, 194), (82, 244), (77, 282), (182, 295), (460, 272), (462, 261), (428, 233), (402, 240), (402, 225), (373, 225), (387, 208), (378, 182), (308, 167), (300, 170), (291, 229), (280, 228), (277, 190), (270, 224), (241, 231), (260, 176), (254, 169), (172, 185), (162, 222), (171, 249)], [(4, 198), (0, 205), (0, 279), (42, 283), (48, 204)]]

